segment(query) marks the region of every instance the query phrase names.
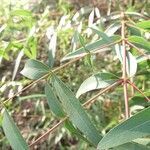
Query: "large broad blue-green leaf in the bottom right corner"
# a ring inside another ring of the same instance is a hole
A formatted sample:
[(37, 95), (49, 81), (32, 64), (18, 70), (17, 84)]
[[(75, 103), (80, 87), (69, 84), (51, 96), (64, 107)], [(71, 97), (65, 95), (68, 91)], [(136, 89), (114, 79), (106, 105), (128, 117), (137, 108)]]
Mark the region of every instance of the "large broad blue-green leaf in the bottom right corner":
[(98, 149), (112, 148), (150, 135), (149, 114), (150, 107), (120, 123), (103, 137), (98, 144)]

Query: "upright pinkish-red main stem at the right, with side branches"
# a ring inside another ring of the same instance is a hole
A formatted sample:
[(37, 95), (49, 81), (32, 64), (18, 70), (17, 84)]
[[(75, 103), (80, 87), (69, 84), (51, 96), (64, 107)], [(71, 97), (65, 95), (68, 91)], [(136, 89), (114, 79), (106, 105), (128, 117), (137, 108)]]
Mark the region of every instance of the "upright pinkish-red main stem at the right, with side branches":
[(125, 117), (128, 119), (130, 117), (129, 104), (128, 104), (128, 92), (127, 92), (127, 71), (126, 71), (126, 41), (125, 41), (125, 21), (124, 21), (124, 12), (121, 13), (122, 16), (122, 28), (121, 28), (121, 37), (122, 37), (122, 47), (123, 47), (123, 90), (124, 90), (124, 102), (125, 102)]

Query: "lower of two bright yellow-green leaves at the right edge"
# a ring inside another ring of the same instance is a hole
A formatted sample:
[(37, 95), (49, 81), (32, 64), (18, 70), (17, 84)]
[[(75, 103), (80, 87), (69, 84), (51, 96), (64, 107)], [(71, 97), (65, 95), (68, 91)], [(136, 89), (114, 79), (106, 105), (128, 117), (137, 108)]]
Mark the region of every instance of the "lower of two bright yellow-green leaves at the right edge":
[(140, 36), (130, 36), (128, 37), (129, 42), (137, 46), (138, 48), (142, 48), (147, 52), (150, 52), (150, 42)]

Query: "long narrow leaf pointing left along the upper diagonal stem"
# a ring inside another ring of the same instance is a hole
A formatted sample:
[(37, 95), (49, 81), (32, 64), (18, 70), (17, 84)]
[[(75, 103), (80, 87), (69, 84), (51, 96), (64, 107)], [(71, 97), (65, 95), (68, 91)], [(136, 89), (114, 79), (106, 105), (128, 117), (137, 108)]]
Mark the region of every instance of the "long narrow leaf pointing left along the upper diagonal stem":
[(112, 36), (112, 37), (109, 37), (109, 39), (110, 39), (111, 42), (110, 41), (106, 41), (105, 39), (100, 39), (100, 40), (97, 40), (96, 42), (87, 44), (87, 45), (85, 45), (85, 47), (81, 47), (81, 48), (77, 49), (76, 51), (67, 54), (62, 59), (62, 61), (68, 60), (68, 59), (71, 59), (71, 58), (84, 56), (86, 54), (85, 48), (88, 49), (89, 52), (95, 52), (96, 50), (100, 50), (101, 52), (104, 52), (104, 51), (106, 51), (108, 49), (106, 49), (106, 48), (104, 49), (103, 47), (104, 46), (107, 47), (108, 44), (111, 44), (111, 43), (119, 41), (120, 36)]

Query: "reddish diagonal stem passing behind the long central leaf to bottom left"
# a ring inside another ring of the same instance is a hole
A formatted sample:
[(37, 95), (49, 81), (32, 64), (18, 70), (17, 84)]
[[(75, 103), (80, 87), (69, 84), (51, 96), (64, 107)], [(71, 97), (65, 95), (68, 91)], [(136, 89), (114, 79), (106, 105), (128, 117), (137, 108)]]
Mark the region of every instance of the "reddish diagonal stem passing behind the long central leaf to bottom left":
[[(89, 99), (87, 102), (85, 102), (82, 106), (87, 107), (89, 104), (93, 104), (96, 100), (97, 97), (99, 97), (101, 94), (105, 93), (106, 91), (116, 87), (117, 85), (121, 84), (122, 80), (118, 80), (117, 82), (115, 82), (114, 84), (108, 86), (107, 88), (103, 89), (102, 91), (100, 91), (97, 95), (95, 95), (94, 97), (92, 97), (91, 99)], [(68, 116), (64, 117), (63, 119), (61, 119), (56, 125), (54, 125), (52, 128), (50, 128), (47, 132), (45, 132), (42, 136), (40, 136), (38, 139), (36, 139), (35, 141), (33, 141), (30, 144), (30, 147), (33, 147), (34, 145), (36, 145), (37, 143), (39, 143), (39, 141), (41, 141), (42, 139), (46, 138), (50, 133), (52, 133), (54, 130), (56, 130), (62, 123), (64, 123), (66, 120), (68, 119)]]

